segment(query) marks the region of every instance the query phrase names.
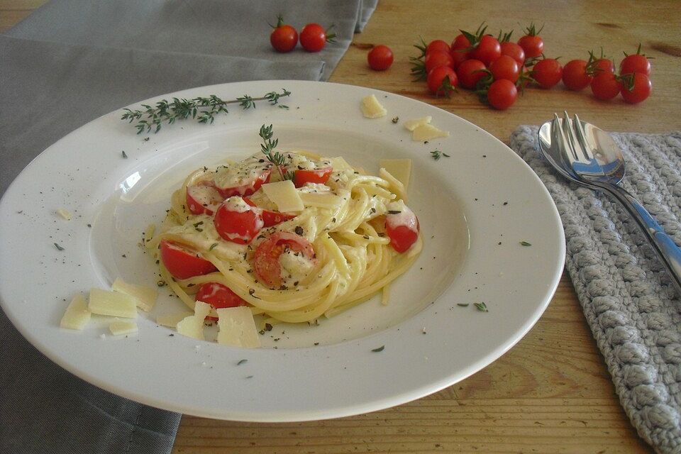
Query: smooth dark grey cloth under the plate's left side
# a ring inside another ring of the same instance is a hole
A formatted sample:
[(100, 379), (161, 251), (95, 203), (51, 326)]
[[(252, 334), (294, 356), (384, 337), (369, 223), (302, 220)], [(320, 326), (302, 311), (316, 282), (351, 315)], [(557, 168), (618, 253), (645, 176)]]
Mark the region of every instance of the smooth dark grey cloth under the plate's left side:
[[(63, 135), (135, 101), (224, 82), (328, 79), (376, 2), (46, 4), (0, 35), (0, 194)], [(267, 25), (278, 13), (296, 28), (307, 22), (335, 23), (337, 42), (315, 54), (300, 48), (278, 54), (270, 47)], [(74, 377), (35, 350), (2, 311), (0, 364), (0, 453), (155, 454), (172, 449), (179, 414)]]

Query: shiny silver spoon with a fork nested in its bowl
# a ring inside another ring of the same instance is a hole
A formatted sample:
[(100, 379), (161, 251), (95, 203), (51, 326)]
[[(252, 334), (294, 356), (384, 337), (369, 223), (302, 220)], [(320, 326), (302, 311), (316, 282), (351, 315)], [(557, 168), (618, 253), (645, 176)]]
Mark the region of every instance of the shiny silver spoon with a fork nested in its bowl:
[(575, 116), (555, 116), (538, 133), (539, 148), (560, 175), (591, 189), (601, 190), (619, 201), (648, 238), (681, 295), (681, 249), (653, 216), (619, 184), (626, 163), (610, 135)]

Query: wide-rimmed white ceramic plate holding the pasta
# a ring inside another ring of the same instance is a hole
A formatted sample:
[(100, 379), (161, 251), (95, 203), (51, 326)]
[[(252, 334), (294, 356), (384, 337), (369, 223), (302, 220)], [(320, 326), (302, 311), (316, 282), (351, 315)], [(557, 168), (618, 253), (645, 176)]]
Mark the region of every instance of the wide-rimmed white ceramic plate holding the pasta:
[[(136, 135), (115, 111), (33, 160), (0, 204), (1, 304), (23, 336), (123, 397), (241, 421), (324, 419), (402, 404), (462, 380), (519, 341), (546, 309), (565, 258), (558, 213), (532, 170), (462, 118), (372, 89), (243, 82), (160, 98), (233, 99), (282, 87), (292, 92), (283, 100), (288, 110), (232, 107), (211, 126), (182, 121), (151, 135)], [(376, 94), (387, 116), (362, 117), (367, 94)], [(402, 123), (427, 115), (450, 137), (412, 141)], [(138, 245), (145, 227), (162, 220), (190, 170), (258, 153), (263, 123), (274, 125), (283, 150), (343, 155), (371, 172), (384, 157), (413, 160), (409, 205), (426, 245), (392, 287), (389, 306), (373, 299), (319, 326), (277, 326), (257, 350), (171, 336), (155, 316), (184, 306), (167, 289), (152, 314), (140, 312), (135, 336), (109, 336), (96, 317), (84, 331), (60, 328), (74, 294), (108, 288), (116, 277), (155, 284), (155, 265)], [(449, 156), (433, 160), (436, 149)], [(59, 208), (72, 220), (57, 216)], [(480, 301), (489, 312), (475, 308)]]

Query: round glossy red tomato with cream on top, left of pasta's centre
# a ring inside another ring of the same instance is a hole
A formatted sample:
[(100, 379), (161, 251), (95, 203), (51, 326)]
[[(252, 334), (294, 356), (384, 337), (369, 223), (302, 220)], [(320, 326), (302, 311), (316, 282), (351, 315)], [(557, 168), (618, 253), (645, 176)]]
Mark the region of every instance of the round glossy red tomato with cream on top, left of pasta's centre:
[(213, 223), (218, 235), (237, 244), (250, 243), (265, 226), (262, 210), (250, 206), (240, 196), (223, 201), (215, 213)]

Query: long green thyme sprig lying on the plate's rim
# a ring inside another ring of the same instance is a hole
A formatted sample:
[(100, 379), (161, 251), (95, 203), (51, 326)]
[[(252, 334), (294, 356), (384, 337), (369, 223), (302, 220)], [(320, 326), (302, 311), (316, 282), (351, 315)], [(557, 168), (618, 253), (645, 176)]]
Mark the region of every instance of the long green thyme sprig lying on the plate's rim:
[(157, 133), (163, 123), (172, 125), (177, 120), (186, 120), (187, 118), (196, 119), (199, 123), (213, 123), (217, 114), (228, 114), (227, 104), (238, 104), (243, 109), (255, 109), (257, 101), (267, 101), (272, 106), (288, 109), (288, 106), (279, 104), (279, 99), (290, 94), (291, 92), (287, 89), (282, 89), (281, 92), (269, 92), (258, 98), (245, 94), (228, 101), (224, 101), (214, 94), (193, 99), (173, 98), (172, 101), (162, 99), (157, 101), (154, 106), (142, 104), (144, 108), (142, 110), (123, 109), (125, 113), (121, 116), (121, 120), (128, 121), (128, 123), (136, 121), (135, 128), (137, 128), (138, 134), (150, 133), (152, 130)]

